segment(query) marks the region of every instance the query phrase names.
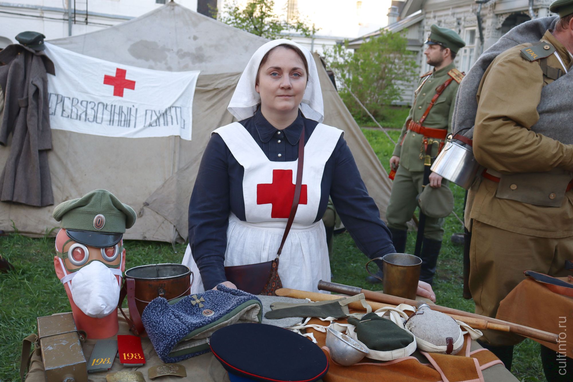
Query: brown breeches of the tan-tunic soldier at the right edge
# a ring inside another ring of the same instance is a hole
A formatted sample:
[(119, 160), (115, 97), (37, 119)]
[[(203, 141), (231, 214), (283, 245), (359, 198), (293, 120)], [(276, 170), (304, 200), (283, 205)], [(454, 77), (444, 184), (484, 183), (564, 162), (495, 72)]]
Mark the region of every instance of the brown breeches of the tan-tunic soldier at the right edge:
[[(567, 276), (565, 260), (572, 252), (573, 236), (528, 236), (473, 220), (469, 288), (476, 313), (496, 317), (500, 301), (525, 279), (524, 271)], [(524, 339), (496, 330), (485, 330), (484, 337), (482, 341), (494, 346), (515, 345)]]

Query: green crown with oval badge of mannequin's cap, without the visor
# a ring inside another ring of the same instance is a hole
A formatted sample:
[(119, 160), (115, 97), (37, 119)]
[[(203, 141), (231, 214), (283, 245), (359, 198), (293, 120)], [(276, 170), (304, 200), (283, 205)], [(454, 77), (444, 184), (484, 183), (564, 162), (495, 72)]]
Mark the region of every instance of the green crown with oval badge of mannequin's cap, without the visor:
[(108, 190), (93, 190), (81, 198), (62, 202), (52, 216), (65, 229), (97, 233), (124, 233), (136, 218), (134, 209)]

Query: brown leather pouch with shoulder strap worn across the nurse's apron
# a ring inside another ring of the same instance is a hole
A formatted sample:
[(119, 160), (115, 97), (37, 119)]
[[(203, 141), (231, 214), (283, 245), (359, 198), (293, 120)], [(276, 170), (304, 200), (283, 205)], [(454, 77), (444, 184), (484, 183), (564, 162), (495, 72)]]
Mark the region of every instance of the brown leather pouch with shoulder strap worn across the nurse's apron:
[(241, 266), (225, 267), (227, 281), (235, 284), (238, 289), (251, 294), (275, 295), (274, 291), (282, 288), (280, 276), (278, 276), (278, 258), (285, 244), (286, 236), (291, 230), (295, 220), (296, 210), (299, 208), (300, 189), (303, 184), (304, 166), (304, 128), (299, 139), (299, 163), (296, 170), (295, 196), (292, 200), (291, 215), (286, 222), (285, 232), (282, 234), (281, 245), (278, 247), (277, 257), (270, 262), (246, 264)]

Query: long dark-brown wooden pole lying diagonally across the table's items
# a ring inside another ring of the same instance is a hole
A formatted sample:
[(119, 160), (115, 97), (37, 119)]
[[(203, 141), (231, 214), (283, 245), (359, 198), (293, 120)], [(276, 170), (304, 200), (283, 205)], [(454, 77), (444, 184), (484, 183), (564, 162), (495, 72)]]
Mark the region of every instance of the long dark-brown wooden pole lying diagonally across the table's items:
[[(350, 296), (364, 293), (364, 297), (366, 297), (367, 300), (382, 302), (382, 303), (391, 304), (391, 305), (400, 305), (400, 304), (404, 303), (407, 305), (416, 306), (418, 303), (415, 300), (411, 300), (411, 299), (407, 299), (407, 298), (395, 297), (395, 296), (392, 296), (389, 294), (373, 292), (373, 291), (370, 291), (367, 289), (360, 289), (359, 287), (353, 287), (353, 286), (348, 286), (348, 285), (343, 285), (343, 284), (330, 283), (330, 282), (326, 282), (323, 280), (319, 281), (318, 289), (319, 290), (325, 290), (325, 291), (331, 291), (331, 292), (335, 292), (335, 293), (340, 293), (340, 294), (346, 294), (346, 295), (350, 295)], [(440, 306), (440, 305), (432, 305), (431, 309), (441, 311), (442, 313), (445, 313), (448, 315), (461, 316), (464, 319), (476, 318), (476, 319), (485, 320), (487, 323), (487, 325), (486, 325), (487, 329), (506, 331), (504, 329), (509, 328), (509, 330), (507, 330), (507, 331), (510, 333), (519, 334), (520, 336), (524, 336), (524, 337), (534, 338), (536, 340), (550, 342), (551, 344), (556, 344), (557, 340), (558, 340), (557, 334), (544, 332), (543, 330), (539, 330), (539, 329), (535, 329), (535, 328), (529, 328), (528, 326), (518, 325), (517, 323), (507, 322), (507, 321), (503, 321), (503, 320), (497, 319), (497, 318), (485, 317), (484, 315), (469, 313), (467, 311), (453, 309), (453, 308), (450, 308), (447, 306)], [(468, 322), (466, 322), (466, 323), (468, 323)], [(470, 325), (470, 324), (468, 323), (468, 325)], [(498, 329), (498, 328), (503, 328), (503, 329)], [(475, 328), (475, 329), (478, 329), (478, 328)]]

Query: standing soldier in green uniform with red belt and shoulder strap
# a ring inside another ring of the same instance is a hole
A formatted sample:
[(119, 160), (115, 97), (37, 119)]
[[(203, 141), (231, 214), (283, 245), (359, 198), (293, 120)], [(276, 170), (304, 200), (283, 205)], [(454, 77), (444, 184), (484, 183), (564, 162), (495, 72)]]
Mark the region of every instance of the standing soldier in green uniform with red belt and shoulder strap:
[[(410, 221), (417, 206), (417, 196), (422, 192), (426, 145), (432, 145), (431, 156), (435, 157), (444, 145), (446, 135), (452, 130), (452, 114), (458, 86), (464, 75), (456, 69), (454, 58), (465, 46), (464, 40), (451, 29), (432, 25), (426, 41), (426, 63), (434, 69), (421, 76), (415, 99), (390, 166), (397, 169), (390, 203), (386, 211), (388, 228), (397, 252), (405, 251), (407, 221)], [(433, 188), (448, 187), (447, 181), (437, 174), (430, 175)], [(421, 252), (422, 270), (420, 280), (433, 282), (435, 264), (444, 235), (444, 218), (426, 218)], [(368, 281), (376, 282), (372, 276)]]

